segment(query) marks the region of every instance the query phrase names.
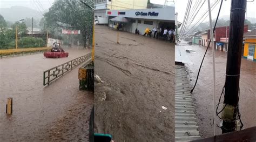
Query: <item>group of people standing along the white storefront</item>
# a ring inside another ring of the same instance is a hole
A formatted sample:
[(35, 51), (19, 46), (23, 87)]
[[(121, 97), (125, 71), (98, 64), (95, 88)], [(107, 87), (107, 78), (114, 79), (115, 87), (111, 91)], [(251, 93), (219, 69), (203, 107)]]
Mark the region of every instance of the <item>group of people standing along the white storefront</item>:
[[(135, 30), (135, 33), (139, 34), (137, 28)], [(154, 38), (162, 37), (164, 40), (175, 42), (176, 32), (175, 30), (169, 29), (169, 28), (164, 28), (164, 30), (162, 28), (157, 28), (157, 29), (153, 28), (152, 30), (150, 30), (149, 28), (146, 28), (143, 36), (151, 37), (152, 35)]]

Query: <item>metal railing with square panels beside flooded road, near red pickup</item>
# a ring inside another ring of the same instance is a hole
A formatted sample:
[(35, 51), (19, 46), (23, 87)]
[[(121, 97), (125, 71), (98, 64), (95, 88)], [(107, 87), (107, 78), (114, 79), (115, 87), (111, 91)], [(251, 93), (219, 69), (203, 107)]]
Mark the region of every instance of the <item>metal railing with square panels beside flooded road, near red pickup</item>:
[(53, 80), (62, 77), (65, 73), (69, 72), (72, 69), (75, 69), (78, 65), (83, 62), (88, 61), (91, 58), (91, 53), (88, 53), (84, 56), (72, 59), (69, 62), (64, 64), (52, 67), (49, 70), (44, 71), (44, 85), (49, 85)]

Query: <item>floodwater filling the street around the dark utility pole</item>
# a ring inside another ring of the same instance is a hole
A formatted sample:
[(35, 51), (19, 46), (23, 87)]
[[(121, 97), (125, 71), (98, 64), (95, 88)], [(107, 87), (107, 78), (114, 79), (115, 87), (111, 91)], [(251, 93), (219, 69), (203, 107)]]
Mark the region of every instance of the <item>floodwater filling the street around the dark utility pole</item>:
[[(206, 47), (197, 45), (182, 44), (185, 49), (193, 49), (196, 53), (186, 53), (190, 63), (186, 63), (193, 85), (196, 81), (197, 73), (203, 58)], [(215, 75), (216, 75), (216, 103), (220, 97), (225, 84), (226, 54), (223, 51), (215, 50)], [(240, 72), (240, 100), (239, 110), (241, 120), (244, 123), (243, 129), (256, 126), (256, 62), (241, 59)], [(197, 86), (193, 96), (196, 103), (196, 113), (199, 121), (199, 131), (203, 138), (213, 136), (213, 66), (212, 49), (207, 51), (203, 66), (200, 71)], [(224, 98), (221, 99), (223, 102)], [(220, 105), (221, 107), (222, 105)], [(219, 110), (220, 111), (220, 110)], [(217, 119), (218, 117), (216, 117)], [(219, 125), (219, 120), (216, 121)], [(221, 134), (221, 129), (216, 128), (217, 134)]]

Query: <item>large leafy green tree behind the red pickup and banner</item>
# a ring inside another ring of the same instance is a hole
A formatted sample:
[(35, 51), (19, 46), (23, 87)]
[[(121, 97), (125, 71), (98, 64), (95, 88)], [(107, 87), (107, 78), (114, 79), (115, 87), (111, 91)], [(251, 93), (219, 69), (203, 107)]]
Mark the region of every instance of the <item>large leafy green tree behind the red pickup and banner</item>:
[[(86, 1), (94, 5), (93, 0)], [(93, 10), (80, 1), (57, 0), (44, 15), (47, 28), (61, 31), (62, 29), (80, 30), (84, 46), (86, 39), (92, 40)]]

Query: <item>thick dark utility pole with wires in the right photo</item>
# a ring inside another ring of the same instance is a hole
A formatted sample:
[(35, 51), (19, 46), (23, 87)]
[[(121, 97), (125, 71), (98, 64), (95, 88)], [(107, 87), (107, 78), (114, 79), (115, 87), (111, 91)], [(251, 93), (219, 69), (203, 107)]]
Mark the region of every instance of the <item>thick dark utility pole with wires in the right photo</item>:
[(235, 131), (235, 120), (238, 116), (245, 10), (246, 0), (231, 1), (222, 133)]

